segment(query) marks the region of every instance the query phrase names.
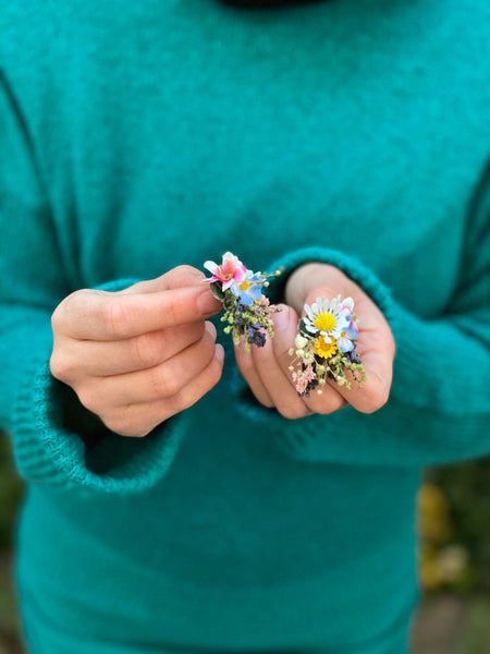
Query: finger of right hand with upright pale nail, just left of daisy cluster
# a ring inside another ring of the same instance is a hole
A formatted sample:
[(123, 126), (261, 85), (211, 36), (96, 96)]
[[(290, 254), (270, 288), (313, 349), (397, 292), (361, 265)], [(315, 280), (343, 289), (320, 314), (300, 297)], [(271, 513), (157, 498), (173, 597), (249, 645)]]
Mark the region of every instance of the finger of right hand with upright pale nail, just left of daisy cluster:
[(297, 316), (286, 305), (280, 305), (280, 308), (281, 312), (273, 315), (274, 338), (267, 339), (264, 348), (253, 348), (252, 355), (255, 370), (274, 407), (281, 415), (294, 420), (304, 417), (309, 410), (297, 395), (290, 377), (284, 374), (287, 350), (294, 343), (296, 335)]

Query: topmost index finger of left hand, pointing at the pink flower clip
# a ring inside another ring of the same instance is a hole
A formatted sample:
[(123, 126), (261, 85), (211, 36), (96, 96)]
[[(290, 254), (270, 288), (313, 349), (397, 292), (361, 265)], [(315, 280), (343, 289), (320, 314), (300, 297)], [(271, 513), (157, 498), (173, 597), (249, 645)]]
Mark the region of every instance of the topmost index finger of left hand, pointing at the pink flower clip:
[(152, 293), (76, 291), (63, 305), (63, 332), (76, 339), (100, 341), (205, 320), (221, 308), (204, 283)]

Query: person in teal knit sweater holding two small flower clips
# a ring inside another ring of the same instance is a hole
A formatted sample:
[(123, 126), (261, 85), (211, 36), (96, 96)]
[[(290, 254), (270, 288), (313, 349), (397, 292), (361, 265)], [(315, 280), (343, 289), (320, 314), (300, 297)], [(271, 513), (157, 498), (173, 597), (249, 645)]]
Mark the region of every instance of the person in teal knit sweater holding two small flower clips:
[[(490, 452), (487, 2), (13, 0), (0, 34), (26, 649), (407, 652), (421, 470)], [(228, 251), (283, 267), (248, 354)], [(338, 294), (366, 384), (299, 397)]]

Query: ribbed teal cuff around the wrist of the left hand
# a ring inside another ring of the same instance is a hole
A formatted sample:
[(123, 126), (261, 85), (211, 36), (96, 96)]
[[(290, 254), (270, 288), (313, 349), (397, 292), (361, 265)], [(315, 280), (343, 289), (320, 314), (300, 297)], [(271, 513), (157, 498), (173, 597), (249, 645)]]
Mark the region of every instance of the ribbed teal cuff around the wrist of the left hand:
[[(99, 287), (115, 291), (134, 280)], [(44, 339), (46, 341), (46, 339)], [(185, 414), (179, 414), (145, 438), (120, 436), (108, 428), (90, 449), (82, 434), (68, 429), (64, 385), (50, 373), (50, 348), (25, 362), (13, 407), (12, 438), (19, 471), (29, 482), (136, 493), (161, 479), (179, 448)]]

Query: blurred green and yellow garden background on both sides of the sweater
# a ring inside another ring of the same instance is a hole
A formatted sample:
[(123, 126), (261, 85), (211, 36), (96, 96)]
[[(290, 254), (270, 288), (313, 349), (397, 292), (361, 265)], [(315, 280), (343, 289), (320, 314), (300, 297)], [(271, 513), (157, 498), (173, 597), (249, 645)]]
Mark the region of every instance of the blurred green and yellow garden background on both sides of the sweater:
[[(23, 486), (0, 434), (0, 654), (21, 654), (11, 583), (12, 530)], [(490, 458), (427, 469), (418, 494), (425, 589), (412, 654), (490, 652)]]

